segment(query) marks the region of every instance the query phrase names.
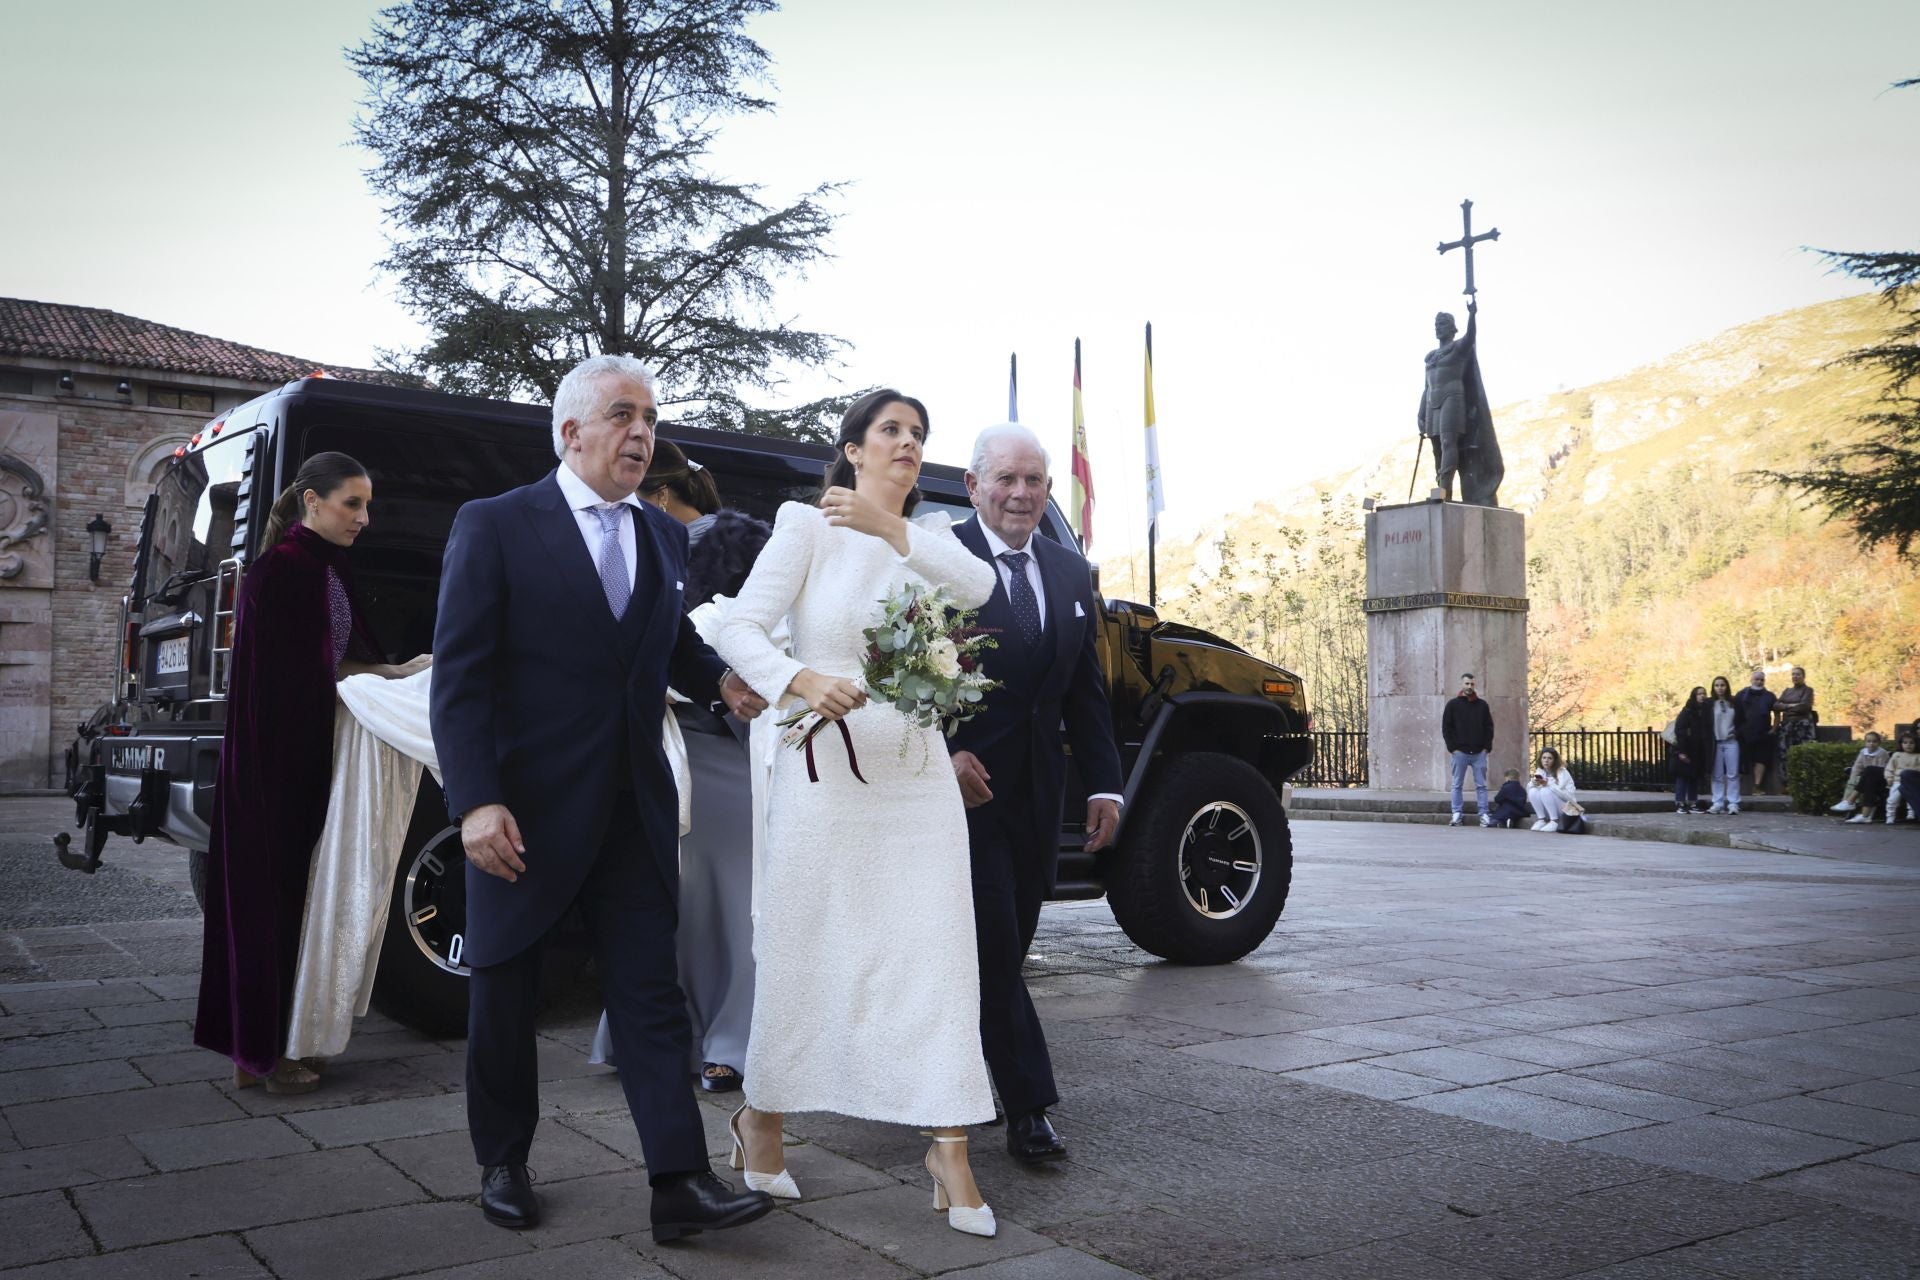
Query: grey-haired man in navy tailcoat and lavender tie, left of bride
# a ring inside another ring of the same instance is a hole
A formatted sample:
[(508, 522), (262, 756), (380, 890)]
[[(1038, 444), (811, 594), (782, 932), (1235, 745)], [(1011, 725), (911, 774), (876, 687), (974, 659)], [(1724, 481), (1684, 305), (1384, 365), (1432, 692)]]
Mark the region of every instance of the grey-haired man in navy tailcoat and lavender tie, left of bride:
[(678, 798), (666, 685), (753, 718), (766, 702), (682, 618), (687, 533), (634, 497), (659, 409), (645, 367), (601, 355), (553, 397), (545, 480), (461, 507), (434, 624), (432, 727), (467, 848), (467, 1123), (490, 1222), (534, 1226), (540, 956), (580, 904), (620, 1084), (653, 1184), (653, 1238), (772, 1209), (707, 1163), (674, 963)]

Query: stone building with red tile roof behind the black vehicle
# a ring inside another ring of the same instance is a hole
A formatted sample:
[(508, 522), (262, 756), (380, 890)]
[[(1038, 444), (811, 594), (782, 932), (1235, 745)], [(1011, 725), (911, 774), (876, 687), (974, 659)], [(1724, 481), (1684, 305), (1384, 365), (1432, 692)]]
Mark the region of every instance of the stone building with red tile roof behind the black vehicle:
[[(0, 297), (0, 793), (60, 787), (113, 693), (119, 601), (159, 470), (215, 415), (326, 365), (102, 307)], [(106, 522), (94, 564), (88, 524)]]

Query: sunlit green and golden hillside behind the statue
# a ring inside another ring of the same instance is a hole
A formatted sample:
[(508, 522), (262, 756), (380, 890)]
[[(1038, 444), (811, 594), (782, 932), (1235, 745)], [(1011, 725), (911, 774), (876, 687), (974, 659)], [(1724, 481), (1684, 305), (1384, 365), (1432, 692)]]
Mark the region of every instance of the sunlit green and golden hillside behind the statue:
[[(1843, 526), (1741, 478), (1857, 436), (1876, 386), (1832, 361), (1882, 338), (1887, 317), (1878, 296), (1786, 311), (1496, 411), (1500, 497), (1528, 516), (1536, 723), (1665, 723), (1692, 685), (1740, 685), (1755, 664), (1776, 687), (1805, 666), (1826, 722), (1920, 716), (1920, 564), (1862, 553)], [(1300, 670), (1323, 722), (1356, 723), (1359, 501), (1404, 501), (1407, 453), (1162, 547), (1164, 612)], [(1104, 574), (1116, 591), (1144, 581), (1139, 557)]]

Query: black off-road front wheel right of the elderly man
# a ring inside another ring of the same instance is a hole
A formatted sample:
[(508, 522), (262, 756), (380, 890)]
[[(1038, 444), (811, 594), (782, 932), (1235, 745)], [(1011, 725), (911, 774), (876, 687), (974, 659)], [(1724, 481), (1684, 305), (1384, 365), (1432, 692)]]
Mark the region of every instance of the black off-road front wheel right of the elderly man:
[[(1258, 871), (1236, 869), (1246, 864)], [(1135, 798), (1108, 860), (1106, 896), (1135, 946), (1223, 965), (1267, 940), (1292, 873), (1292, 831), (1267, 779), (1235, 756), (1192, 752), (1156, 766)]]

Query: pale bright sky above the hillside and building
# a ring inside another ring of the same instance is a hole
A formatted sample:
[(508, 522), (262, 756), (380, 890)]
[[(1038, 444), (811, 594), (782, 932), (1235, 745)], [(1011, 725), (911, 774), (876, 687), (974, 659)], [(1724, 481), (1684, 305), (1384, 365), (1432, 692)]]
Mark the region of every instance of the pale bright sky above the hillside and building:
[[(342, 365), (419, 342), (349, 144), (376, 10), (0, 0), (0, 296)], [(1920, 90), (1885, 90), (1920, 75), (1912, 0), (791, 0), (751, 31), (778, 111), (714, 167), (849, 182), (780, 315), (852, 344), (837, 384), (925, 399), (947, 462), (1018, 351), (1062, 495), (1081, 338), (1100, 555), (1144, 541), (1146, 320), (1177, 532), (1411, 457), (1461, 198), (1501, 230), (1496, 403), (1857, 294), (1801, 246), (1920, 225)]]

